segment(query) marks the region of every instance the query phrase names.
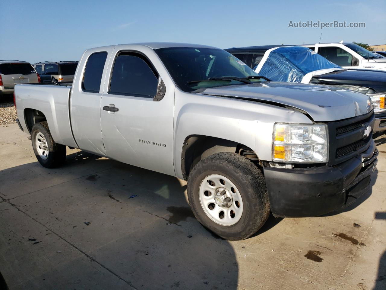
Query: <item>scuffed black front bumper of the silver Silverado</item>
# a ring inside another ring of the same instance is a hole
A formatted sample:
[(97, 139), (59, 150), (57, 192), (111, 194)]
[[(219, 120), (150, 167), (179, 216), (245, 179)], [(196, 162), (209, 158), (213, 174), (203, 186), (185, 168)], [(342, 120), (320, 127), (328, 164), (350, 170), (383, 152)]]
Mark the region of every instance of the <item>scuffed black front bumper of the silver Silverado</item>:
[(264, 167), (275, 217), (316, 217), (339, 210), (371, 188), (378, 150), (374, 142), (357, 157), (335, 166), (283, 169)]

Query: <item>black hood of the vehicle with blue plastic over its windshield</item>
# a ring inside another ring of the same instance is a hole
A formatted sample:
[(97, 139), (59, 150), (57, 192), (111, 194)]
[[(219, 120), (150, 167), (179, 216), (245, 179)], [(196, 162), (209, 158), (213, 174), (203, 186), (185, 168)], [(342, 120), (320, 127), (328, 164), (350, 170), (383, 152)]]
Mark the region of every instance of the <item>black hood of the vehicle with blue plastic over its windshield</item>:
[(371, 88), (375, 92), (386, 92), (386, 72), (381, 70), (335, 70), (313, 78), (327, 85), (357, 85)]

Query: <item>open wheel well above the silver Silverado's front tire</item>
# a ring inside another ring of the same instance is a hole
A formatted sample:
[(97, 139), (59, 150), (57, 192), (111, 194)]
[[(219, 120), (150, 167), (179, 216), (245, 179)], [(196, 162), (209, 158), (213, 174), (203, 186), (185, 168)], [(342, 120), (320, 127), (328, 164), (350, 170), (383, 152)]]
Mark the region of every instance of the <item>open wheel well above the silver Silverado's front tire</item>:
[(181, 169), (184, 179), (188, 179), (191, 169), (200, 160), (218, 152), (237, 153), (259, 164), (257, 154), (243, 144), (212, 136), (191, 135), (185, 139), (182, 147)]

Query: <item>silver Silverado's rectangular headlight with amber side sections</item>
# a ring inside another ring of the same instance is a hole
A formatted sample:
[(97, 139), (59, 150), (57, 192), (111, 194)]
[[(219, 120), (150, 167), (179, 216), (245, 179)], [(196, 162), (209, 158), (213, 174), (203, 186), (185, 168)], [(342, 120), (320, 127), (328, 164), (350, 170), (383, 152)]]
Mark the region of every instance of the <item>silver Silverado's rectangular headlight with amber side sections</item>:
[(276, 123), (272, 160), (277, 162), (328, 162), (326, 125)]

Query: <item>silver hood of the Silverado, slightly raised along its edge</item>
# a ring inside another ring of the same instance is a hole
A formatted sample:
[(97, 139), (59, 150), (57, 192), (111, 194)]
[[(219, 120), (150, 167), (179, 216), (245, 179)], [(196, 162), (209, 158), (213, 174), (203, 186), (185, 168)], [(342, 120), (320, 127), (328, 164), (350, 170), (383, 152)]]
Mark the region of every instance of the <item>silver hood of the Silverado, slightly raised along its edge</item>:
[(262, 82), (208, 88), (199, 93), (284, 105), (300, 109), (318, 122), (352, 118), (373, 109), (366, 95), (325, 85)]

